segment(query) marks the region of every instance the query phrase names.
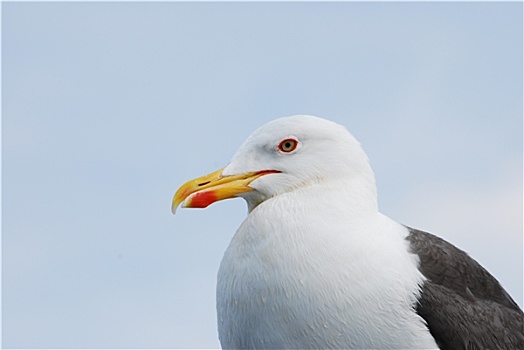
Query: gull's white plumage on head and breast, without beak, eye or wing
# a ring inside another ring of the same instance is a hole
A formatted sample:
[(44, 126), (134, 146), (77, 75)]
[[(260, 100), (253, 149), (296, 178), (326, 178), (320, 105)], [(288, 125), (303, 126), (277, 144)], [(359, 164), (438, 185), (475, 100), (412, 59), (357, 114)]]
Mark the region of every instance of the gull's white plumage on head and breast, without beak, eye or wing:
[[(289, 137), (300, 147), (278, 151)], [(407, 229), (378, 212), (358, 142), (320, 118), (277, 119), (224, 174), (267, 169), (281, 173), (251, 184), (250, 212), (220, 265), (222, 347), (437, 348), (414, 310), (424, 277)]]

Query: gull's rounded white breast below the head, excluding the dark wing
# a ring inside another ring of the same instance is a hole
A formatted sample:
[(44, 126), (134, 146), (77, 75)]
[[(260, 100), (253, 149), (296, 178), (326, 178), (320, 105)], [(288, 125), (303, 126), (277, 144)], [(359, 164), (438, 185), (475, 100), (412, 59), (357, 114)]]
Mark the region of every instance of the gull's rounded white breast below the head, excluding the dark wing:
[(295, 197), (259, 205), (226, 250), (222, 347), (437, 348), (413, 309), (424, 277), (406, 229), (376, 212), (356, 220), (336, 203)]

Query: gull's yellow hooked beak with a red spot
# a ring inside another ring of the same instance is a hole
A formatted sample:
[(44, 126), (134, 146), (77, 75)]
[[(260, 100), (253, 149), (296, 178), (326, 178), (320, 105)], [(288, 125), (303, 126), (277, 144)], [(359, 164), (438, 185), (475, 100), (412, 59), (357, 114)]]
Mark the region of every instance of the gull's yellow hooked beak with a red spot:
[(224, 168), (183, 184), (173, 197), (171, 205), (173, 214), (175, 214), (180, 203), (182, 203), (183, 208), (205, 208), (222, 199), (252, 191), (253, 189), (249, 187), (249, 184), (255, 179), (279, 172), (262, 170), (240, 175), (222, 176), (222, 170)]

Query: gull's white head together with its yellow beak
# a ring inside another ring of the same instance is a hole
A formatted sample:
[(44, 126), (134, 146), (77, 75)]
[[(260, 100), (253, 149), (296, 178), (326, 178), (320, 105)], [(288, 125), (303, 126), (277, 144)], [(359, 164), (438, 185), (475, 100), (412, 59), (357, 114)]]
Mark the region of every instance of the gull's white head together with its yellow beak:
[(252, 210), (281, 193), (323, 183), (364, 187), (376, 201), (367, 156), (346, 128), (308, 115), (283, 117), (255, 130), (225, 168), (183, 185), (173, 206), (205, 207), (240, 196)]

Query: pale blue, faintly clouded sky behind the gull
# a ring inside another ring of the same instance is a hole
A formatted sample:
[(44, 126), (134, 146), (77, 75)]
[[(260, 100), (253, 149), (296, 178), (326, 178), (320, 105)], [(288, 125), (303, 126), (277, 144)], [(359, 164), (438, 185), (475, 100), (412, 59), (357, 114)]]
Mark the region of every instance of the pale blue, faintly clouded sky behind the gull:
[(265, 122), (345, 125), (383, 213), (522, 305), (521, 3), (3, 3), (5, 348), (215, 348), (240, 199), (170, 211)]

